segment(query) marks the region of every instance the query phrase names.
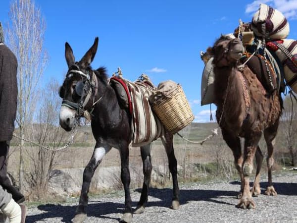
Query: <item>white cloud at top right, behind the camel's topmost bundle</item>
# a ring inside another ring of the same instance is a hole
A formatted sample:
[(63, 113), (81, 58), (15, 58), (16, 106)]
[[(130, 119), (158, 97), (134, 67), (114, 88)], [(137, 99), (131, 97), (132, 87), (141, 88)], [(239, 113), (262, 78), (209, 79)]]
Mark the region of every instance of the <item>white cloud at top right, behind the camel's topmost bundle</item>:
[(265, 3), (281, 11), (287, 19), (297, 18), (297, 0), (254, 0), (247, 4), (246, 13), (251, 14), (258, 10), (260, 3)]

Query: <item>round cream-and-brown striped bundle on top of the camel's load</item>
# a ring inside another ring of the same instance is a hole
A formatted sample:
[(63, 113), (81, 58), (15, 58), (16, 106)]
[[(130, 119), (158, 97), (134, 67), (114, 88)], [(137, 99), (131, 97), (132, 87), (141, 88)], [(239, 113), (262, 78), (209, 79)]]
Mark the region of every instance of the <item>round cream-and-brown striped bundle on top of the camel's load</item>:
[(265, 23), (265, 39), (267, 41), (281, 40), (288, 37), (290, 27), (286, 17), (282, 12), (267, 4), (260, 4), (259, 9), (252, 17), (251, 29), (256, 36), (262, 36), (263, 23)]

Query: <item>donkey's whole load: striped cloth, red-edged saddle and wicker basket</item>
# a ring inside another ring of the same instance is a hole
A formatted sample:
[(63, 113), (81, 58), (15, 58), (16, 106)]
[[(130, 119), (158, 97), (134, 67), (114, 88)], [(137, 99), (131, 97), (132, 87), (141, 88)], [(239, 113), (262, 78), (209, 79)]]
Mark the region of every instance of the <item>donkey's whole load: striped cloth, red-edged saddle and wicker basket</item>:
[(180, 84), (167, 80), (155, 87), (145, 74), (131, 82), (122, 77), (120, 69), (116, 73), (109, 84), (115, 90), (119, 105), (132, 115), (132, 146), (157, 139), (164, 127), (175, 134), (194, 120)]

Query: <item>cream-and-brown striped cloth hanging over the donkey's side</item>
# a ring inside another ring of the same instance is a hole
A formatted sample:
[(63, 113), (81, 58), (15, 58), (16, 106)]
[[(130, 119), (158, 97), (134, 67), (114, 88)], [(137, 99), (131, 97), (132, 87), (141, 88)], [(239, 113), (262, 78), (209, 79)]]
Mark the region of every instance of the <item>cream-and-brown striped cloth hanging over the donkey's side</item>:
[(153, 88), (144, 82), (126, 81), (133, 107), (132, 146), (139, 147), (159, 138), (163, 134), (163, 125), (151, 110), (149, 98)]

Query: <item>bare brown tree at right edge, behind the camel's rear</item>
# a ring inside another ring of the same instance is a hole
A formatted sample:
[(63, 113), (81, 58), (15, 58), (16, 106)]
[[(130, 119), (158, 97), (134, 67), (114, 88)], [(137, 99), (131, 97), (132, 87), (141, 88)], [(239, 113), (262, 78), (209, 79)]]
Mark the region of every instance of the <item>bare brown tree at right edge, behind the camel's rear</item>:
[(289, 150), (291, 165), (297, 165), (297, 104), (290, 96), (284, 100), (284, 111), (281, 117), (282, 128), (281, 134), (284, 134), (285, 146)]

